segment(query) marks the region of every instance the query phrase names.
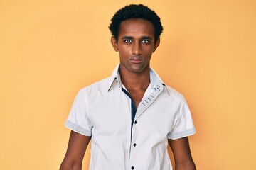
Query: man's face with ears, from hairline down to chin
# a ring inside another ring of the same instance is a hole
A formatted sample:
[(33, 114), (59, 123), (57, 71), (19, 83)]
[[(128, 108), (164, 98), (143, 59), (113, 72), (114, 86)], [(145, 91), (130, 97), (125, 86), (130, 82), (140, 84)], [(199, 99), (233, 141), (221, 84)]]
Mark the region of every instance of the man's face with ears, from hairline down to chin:
[(111, 42), (119, 52), (121, 72), (142, 73), (149, 70), (151, 55), (160, 40), (155, 42), (150, 21), (129, 19), (120, 23), (118, 41), (112, 37)]

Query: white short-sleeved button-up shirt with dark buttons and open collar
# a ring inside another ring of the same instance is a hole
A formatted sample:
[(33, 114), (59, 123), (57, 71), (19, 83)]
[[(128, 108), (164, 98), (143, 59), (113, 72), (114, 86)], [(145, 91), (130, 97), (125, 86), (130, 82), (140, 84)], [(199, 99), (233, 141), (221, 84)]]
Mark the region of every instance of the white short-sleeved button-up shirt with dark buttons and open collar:
[(78, 92), (65, 125), (92, 136), (90, 170), (172, 169), (168, 139), (196, 130), (183, 96), (164, 85), (153, 69), (150, 81), (133, 123), (132, 100), (123, 91), (118, 67), (112, 77)]

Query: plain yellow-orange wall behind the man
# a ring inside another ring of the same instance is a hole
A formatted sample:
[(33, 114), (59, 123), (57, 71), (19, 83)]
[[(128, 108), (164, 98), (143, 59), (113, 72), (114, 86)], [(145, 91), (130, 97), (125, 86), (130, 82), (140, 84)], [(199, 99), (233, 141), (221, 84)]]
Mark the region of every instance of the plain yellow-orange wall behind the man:
[(197, 168), (256, 169), (253, 0), (0, 0), (0, 169), (58, 169), (73, 99), (119, 62), (107, 27), (132, 2), (161, 16), (151, 67), (188, 101)]

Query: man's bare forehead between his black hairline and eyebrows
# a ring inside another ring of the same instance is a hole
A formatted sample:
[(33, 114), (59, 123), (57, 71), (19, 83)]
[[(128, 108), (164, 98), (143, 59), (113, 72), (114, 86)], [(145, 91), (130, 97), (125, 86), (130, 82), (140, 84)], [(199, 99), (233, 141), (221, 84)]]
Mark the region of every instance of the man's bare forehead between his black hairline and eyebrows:
[(154, 38), (154, 27), (150, 21), (144, 19), (128, 19), (119, 26), (119, 37), (122, 36), (149, 36)]

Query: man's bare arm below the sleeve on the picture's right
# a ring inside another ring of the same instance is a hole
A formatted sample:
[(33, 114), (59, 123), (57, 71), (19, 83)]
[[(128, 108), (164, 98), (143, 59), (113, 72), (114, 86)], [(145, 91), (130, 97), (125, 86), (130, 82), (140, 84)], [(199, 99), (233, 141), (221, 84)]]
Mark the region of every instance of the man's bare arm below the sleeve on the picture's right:
[(196, 166), (191, 156), (188, 137), (182, 137), (177, 140), (168, 140), (171, 150), (174, 154), (174, 162), (176, 170), (186, 169), (195, 170)]

